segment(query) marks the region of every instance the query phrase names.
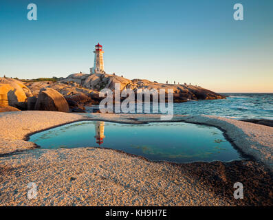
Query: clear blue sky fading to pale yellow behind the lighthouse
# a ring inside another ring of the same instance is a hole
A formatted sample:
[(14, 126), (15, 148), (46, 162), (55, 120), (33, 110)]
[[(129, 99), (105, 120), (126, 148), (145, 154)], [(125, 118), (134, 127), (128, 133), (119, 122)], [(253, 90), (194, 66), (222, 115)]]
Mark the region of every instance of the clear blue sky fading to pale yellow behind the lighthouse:
[[(38, 20), (28, 21), (36, 3)], [(234, 21), (242, 3), (244, 20)], [(272, 0), (1, 0), (0, 76), (105, 70), (219, 92), (273, 92)]]

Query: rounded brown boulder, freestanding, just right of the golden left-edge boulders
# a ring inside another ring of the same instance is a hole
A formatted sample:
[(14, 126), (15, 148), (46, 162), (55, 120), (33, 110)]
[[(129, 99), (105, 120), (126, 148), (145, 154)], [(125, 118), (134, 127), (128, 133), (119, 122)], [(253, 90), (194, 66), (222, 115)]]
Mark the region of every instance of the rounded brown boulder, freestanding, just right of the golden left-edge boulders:
[(67, 100), (52, 88), (43, 88), (40, 90), (34, 109), (40, 111), (69, 112)]

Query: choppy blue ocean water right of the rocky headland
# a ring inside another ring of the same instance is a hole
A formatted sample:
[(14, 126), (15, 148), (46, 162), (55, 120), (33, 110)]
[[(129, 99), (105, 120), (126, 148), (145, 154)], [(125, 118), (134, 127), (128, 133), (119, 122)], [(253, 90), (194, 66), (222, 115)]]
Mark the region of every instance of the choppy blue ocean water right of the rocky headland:
[[(273, 120), (273, 94), (223, 95), (227, 96), (226, 99), (189, 100), (188, 102), (174, 103), (173, 113), (179, 115), (216, 115), (238, 120)], [(98, 109), (98, 106), (86, 107), (87, 112), (93, 112), (93, 109)]]

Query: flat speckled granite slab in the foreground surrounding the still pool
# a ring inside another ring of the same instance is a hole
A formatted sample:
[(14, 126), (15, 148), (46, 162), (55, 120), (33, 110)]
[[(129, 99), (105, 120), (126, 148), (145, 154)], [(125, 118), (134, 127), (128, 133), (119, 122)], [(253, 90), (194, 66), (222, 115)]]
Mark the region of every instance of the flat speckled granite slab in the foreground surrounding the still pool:
[[(2, 206), (272, 206), (270, 126), (213, 116), (175, 115), (173, 121), (219, 126), (252, 159), (174, 164), (151, 162), (105, 148), (32, 149), (28, 135), (78, 120), (140, 124), (160, 115), (17, 111), (0, 113)], [(243, 182), (245, 198), (234, 199)], [(29, 200), (27, 184), (38, 186)]]

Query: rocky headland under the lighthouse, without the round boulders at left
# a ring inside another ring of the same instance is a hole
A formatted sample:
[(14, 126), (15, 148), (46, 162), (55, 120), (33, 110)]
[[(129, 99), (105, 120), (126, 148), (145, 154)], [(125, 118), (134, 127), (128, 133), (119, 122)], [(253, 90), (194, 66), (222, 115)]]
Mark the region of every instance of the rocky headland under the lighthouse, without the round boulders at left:
[[(73, 83), (72, 83), (73, 82)], [(120, 89), (173, 89), (174, 102), (186, 102), (188, 100), (211, 100), (225, 98), (213, 91), (204, 89), (197, 85), (182, 84), (163, 84), (156, 81), (135, 78), (129, 80), (116, 74), (71, 74), (67, 78), (58, 81), (53, 88), (59, 91), (67, 100), (73, 100), (78, 104), (98, 104), (102, 98), (98, 96), (101, 89), (115, 89), (116, 83), (120, 84)], [(52, 86), (50, 86), (52, 87)], [(91, 98), (89, 100), (87, 98)], [(166, 96), (167, 98), (167, 96)], [(93, 100), (93, 102), (92, 102)]]

